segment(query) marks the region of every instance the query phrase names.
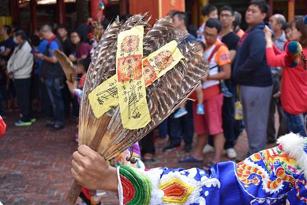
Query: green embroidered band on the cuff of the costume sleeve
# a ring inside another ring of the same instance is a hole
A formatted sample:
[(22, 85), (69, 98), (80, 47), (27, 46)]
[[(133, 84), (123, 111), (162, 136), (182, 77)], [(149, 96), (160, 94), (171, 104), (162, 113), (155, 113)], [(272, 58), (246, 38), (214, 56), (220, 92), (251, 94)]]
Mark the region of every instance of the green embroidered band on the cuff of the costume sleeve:
[(127, 202), (127, 205), (149, 205), (151, 199), (151, 181), (144, 174), (129, 166), (122, 165), (119, 173), (126, 177), (135, 187), (135, 197)]

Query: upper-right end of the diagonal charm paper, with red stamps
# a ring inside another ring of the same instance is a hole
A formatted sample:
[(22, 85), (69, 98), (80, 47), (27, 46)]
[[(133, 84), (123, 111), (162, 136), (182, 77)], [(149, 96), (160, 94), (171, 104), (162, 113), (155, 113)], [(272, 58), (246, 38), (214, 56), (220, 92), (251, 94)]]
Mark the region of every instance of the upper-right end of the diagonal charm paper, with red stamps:
[(146, 86), (163, 76), (184, 58), (177, 45), (176, 40), (172, 40), (143, 59)]

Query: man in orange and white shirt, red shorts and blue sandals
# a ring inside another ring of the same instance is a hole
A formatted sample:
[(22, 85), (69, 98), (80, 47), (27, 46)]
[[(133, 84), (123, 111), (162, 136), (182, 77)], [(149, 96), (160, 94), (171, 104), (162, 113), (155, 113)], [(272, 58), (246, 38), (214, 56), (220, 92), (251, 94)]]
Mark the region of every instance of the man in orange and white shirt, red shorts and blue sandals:
[(198, 102), (193, 102), (194, 129), (197, 134), (195, 151), (183, 158), (180, 162), (203, 162), (203, 148), (208, 141), (208, 134), (213, 135), (215, 153), (213, 160), (204, 166), (205, 170), (221, 161), (225, 138), (222, 128), (223, 94), (220, 89), (220, 80), (230, 78), (231, 60), (227, 46), (217, 39), (222, 29), (221, 22), (210, 18), (206, 22), (204, 35), (206, 38), (205, 58), (210, 65), (210, 71), (202, 79), (204, 115), (196, 115)]

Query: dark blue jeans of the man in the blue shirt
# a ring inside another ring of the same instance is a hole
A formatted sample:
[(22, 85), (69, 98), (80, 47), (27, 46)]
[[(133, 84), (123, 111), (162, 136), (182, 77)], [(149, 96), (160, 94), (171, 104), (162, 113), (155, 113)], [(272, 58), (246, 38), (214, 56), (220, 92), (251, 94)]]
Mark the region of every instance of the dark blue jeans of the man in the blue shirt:
[(64, 87), (63, 80), (61, 78), (45, 78), (44, 81), (52, 104), (54, 124), (62, 126), (65, 116), (61, 91)]

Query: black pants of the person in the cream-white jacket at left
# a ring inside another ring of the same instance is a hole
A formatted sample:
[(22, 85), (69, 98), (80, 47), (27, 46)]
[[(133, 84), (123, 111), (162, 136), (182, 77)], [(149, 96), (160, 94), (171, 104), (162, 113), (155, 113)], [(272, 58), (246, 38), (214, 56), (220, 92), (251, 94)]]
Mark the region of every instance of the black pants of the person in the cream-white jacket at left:
[(14, 80), (20, 113), (23, 115), (21, 121), (30, 122), (32, 116), (31, 106), (31, 78)]

